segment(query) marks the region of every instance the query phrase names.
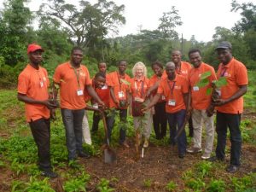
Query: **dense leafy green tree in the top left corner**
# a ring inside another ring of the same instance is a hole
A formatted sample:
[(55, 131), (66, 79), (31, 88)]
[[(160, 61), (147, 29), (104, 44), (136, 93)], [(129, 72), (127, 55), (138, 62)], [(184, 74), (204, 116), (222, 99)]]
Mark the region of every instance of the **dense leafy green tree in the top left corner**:
[(19, 61), (25, 61), (24, 52), (27, 45), (27, 32), (32, 21), (31, 11), (24, 6), (26, 0), (9, 0), (4, 3), (2, 18), (0, 18), (0, 54), (5, 63), (15, 66)]

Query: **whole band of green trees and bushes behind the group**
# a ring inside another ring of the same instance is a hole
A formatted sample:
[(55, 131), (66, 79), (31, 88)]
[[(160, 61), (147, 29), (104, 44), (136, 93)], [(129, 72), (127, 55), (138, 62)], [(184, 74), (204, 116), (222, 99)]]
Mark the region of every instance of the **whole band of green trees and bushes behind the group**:
[[(188, 51), (201, 49), (203, 60), (218, 67), (214, 48), (220, 41), (230, 41), (233, 55), (253, 69), (256, 66), (256, 5), (253, 3), (230, 4), (233, 12), (241, 15), (231, 29), (216, 26), (212, 41), (198, 42), (195, 36), (183, 39), (175, 31), (183, 24), (178, 10), (172, 7), (160, 16), (160, 25), (154, 30), (140, 27), (137, 34), (108, 38), (118, 34), (118, 27), (125, 24), (125, 5), (98, 0), (92, 4), (80, 1), (79, 6), (64, 0), (48, 0), (33, 13), (27, 0), (6, 0), (0, 12), (0, 87), (15, 86), (17, 75), (26, 66), (27, 44), (36, 42), (45, 49), (44, 67), (53, 73), (55, 67), (69, 59), (74, 45), (84, 49), (84, 64), (92, 75), (99, 61), (106, 61), (110, 71), (119, 60), (125, 59), (132, 66), (137, 61), (146, 65), (154, 61), (166, 63), (172, 49), (183, 52), (188, 61)], [(38, 28), (32, 25), (38, 20)]]

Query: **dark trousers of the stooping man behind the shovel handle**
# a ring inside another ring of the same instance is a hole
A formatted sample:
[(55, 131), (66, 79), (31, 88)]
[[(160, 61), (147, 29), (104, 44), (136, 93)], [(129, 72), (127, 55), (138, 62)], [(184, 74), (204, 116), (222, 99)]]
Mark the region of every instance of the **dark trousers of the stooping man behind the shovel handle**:
[[(108, 130), (108, 141), (110, 142), (111, 140), (111, 135), (112, 135), (112, 130), (113, 130), (113, 125), (114, 125), (114, 118), (109, 116), (111, 114), (105, 113), (106, 117), (106, 123), (107, 123), (107, 130)], [(101, 115), (99, 113), (94, 112), (93, 113), (93, 122), (92, 122), (92, 132), (98, 131), (99, 128), (99, 122), (102, 119)]]

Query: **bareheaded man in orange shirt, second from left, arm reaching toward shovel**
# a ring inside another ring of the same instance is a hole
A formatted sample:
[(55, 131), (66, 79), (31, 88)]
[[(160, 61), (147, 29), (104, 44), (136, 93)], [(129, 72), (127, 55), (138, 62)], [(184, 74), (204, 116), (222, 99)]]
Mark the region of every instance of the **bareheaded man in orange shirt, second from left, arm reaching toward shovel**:
[(87, 67), (81, 65), (83, 50), (74, 47), (71, 51), (71, 61), (56, 67), (54, 80), (60, 86), (61, 116), (66, 130), (66, 144), (68, 160), (73, 161), (77, 157), (89, 158), (90, 154), (82, 148), (82, 121), (84, 118), (84, 89), (89, 96), (104, 106), (104, 102), (96, 95), (91, 86), (90, 73)]

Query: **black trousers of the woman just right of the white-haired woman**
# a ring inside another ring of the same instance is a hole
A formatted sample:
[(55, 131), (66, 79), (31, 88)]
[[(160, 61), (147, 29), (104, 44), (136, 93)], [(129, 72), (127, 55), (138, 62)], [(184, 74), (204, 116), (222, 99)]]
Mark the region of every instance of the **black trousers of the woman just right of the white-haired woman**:
[(154, 105), (153, 124), (155, 137), (157, 139), (166, 137), (166, 102), (158, 102)]

